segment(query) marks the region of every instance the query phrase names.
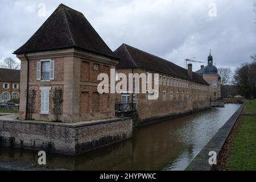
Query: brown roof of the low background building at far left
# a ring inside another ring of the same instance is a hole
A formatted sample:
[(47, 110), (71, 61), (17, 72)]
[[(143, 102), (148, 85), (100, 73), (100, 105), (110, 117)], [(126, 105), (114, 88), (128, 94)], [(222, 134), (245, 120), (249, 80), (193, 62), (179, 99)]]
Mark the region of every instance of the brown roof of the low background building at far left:
[(20, 71), (0, 68), (1, 82), (20, 82)]

